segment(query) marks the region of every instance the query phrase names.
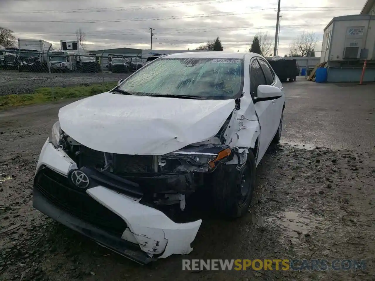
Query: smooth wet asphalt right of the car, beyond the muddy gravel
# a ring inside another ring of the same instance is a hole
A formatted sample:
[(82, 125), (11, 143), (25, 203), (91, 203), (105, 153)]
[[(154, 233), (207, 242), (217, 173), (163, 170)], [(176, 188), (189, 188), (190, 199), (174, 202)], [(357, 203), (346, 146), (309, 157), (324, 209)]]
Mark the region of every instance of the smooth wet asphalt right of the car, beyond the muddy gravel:
[(284, 82), (283, 141), (375, 151), (375, 84)]

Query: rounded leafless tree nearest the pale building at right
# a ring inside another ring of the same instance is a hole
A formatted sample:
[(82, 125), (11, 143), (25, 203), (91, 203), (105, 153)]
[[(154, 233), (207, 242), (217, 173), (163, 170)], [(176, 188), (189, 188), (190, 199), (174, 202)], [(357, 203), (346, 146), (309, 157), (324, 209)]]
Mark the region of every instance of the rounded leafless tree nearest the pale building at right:
[(297, 36), (290, 44), (291, 57), (306, 57), (309, 53), (313, 53), (317, 45), (318, 37), (315, 33), (308, 33), (305, 30)]

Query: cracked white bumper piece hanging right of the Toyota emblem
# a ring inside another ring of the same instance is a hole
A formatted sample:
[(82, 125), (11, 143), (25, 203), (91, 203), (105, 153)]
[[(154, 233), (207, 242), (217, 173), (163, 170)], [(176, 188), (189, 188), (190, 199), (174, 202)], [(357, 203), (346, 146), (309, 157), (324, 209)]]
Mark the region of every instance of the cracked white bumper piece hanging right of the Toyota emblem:
[[(189, 254), (193, 250), (190, 243), (202, 220), (174, 223), (163, 212), (101, 186), (90, 188), (87, 193), (124, 219), (133, 237), (146, 253), (162, 254), (161, 257), (165, 258), (171, 254)], [(123, 236), (127, 238), (129, 233)]]

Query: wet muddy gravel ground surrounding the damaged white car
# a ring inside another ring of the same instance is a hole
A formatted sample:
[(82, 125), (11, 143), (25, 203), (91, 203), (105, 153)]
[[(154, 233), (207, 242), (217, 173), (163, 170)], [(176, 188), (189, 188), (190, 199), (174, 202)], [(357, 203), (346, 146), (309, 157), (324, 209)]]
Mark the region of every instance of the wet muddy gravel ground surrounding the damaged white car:
[[(0, 111), (0, 280), (374, 280), (375, 118), (367, 110), (375, 103), (366, 93), (375, 91), (371, 85), (316, 85), (284, 84), (283, 140), (289, 143), (270, 148), (258, 167), (249, 214), (222, 221), (202, 212), (193, 252), (150, 266), (113, 254), (32, 208), (37, 157), (66, 102)], [(344, 100), (335, 102), (340, 94)], [(361, 106), (351, 102), (355, 94)], [(316, 108), (329, 114), (319, 114), (316, 121)], [(358, 125), (342, 120), (346, 130), (341, 132), (336, 120), (342, 112)], [(359, 139), (358, 130), (369, 136)], [(181, 270), (183, 258), (366, 259), (367, 267), (354, 272), (190, 272)]]

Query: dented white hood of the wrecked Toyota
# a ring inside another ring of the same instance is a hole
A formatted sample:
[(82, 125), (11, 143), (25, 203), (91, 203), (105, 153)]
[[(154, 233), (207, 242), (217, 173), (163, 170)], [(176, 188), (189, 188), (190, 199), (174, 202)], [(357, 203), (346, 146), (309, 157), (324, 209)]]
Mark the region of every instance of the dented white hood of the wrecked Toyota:
[(220, 130), (235, 102), (102, 93), (64, 106), (61, 129), (104, 152), (163, 155)]

